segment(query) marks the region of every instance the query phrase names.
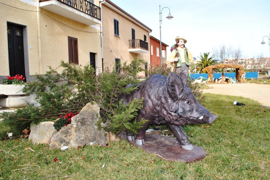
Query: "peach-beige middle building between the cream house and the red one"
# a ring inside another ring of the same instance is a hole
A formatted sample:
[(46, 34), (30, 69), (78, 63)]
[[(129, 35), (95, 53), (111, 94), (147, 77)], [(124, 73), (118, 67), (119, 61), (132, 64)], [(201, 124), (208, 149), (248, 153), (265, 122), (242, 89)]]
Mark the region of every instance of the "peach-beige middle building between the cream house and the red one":
[(146, 61), (147, 68), (150, 63), (149, 33), (152, 30), (109, 0), (101, 7), (104, 67), (112, 70), (119, 60), (130, 63), (139, 58)]

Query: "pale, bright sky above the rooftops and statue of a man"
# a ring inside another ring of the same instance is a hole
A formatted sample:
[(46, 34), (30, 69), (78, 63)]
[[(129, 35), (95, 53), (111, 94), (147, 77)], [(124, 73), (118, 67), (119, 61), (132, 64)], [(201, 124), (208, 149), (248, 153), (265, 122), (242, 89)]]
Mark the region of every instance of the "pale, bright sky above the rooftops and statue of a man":
[[(162, 10), (161, 41), (171, 46), (176, 36), (184, 36), (186, 47), (195, 58), (204, 52), (212, 55), (212, 48), (222, 44), (239, 47), (242, 57), (262, 53), (270, 57), (270, 0), (111, 1), (152, 29), (150, 35), (157, 39), (160, 39), (159, 5), (161, 9), (170, 8), (174, 17), (171, 20), (166, 19), (169, 9)], [(168, 55), (170, 47), (167, 47)]]

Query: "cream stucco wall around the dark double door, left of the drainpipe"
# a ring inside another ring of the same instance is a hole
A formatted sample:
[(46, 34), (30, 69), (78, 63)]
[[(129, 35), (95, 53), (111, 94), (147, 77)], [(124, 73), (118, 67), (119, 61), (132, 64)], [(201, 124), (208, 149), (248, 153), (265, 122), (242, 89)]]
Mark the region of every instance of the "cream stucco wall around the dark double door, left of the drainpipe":
[[(36, 19), (36, 6), (29, 3), (21, 2), (18, 0), (2, 0), (3, 4), (0, 4), (1, 18), (0, 18), (0, 75), (9, 75), (9, 62), (8, 62), (8, 37), (7, 37), (7, 23), (16, 23), (23, 26), (23, 38), (24, 38), (24, 54), (25, 61), (30, 61), (31, 65), (38, 67), (38, 50), (33, 48), (29, 49), (29, 45), (33, 47), (38, 46), (37, 38), (37, 19)], [(9, 6), (7, 6), (9, 5)], [(13, 6), (13, 7), (10, 7)], [(20, 9), (16, 9), (20, 8)], [(21, 10), (25, 9), (25, 10)], [(26, 11), (28, 10), (28, 11)], [(31, 10), (31, 11), (29, 11)], [(37, 61), (33, 61), (37, 59)], [(26, 70), (27, 71), (27, 70)], [(35, 72), (30, 72), (35, 73)]]

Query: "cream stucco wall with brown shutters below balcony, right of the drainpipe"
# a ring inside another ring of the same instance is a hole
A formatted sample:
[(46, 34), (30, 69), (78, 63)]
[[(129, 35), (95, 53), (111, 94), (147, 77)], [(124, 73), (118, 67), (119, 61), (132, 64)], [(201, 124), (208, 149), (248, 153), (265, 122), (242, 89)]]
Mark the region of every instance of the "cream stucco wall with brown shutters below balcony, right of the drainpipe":
[[(42, 8), (40, 8), (42, 9)], [(100, 27), (88, 26), (42, 9), (40, 13), (40, 38), (42, 47), (42, 70), (56, 68), (61, 60), (68, 62), (68, 36), (78, 40), (79, 65), (90, 62), (89, 53), (96, 53), (96, 65), (102, 67)], [(50, 17), (48, 17), (48, 16)], [(56, 19), (59, 22), (53, 20)], [(67, 25), (67, 26), (66, 26)], [(70, 26), (70, 27), (68, 27)], [(75, 30), (74, 27), (78, 30)], [(82, 31), (80, 31), (82, 30)], [(83, 32), (84, 31), (84, 32)]]

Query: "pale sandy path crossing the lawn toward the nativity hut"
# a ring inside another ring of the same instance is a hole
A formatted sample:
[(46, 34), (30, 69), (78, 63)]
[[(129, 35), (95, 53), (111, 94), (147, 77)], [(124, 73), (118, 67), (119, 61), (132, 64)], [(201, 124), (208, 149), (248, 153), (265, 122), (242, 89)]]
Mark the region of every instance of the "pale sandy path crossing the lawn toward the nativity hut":
[(204, 93), (242, 96), (258, 101), (263, 106), (270, 107), (270, 85), (256, 83), (237, 84), (207, 84), (211, 89), (204, 89)]

